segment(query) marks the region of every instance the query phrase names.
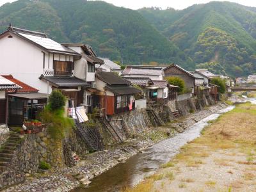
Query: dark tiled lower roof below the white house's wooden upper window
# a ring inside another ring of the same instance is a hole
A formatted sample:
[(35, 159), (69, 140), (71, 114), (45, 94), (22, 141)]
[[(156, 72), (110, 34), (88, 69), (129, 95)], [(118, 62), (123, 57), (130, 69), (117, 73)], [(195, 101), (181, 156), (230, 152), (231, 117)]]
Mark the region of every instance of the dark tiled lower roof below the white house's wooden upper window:
[(49, 81), (49, 83), (53, 84), (56, 87), (76, 87), (76, 86), (89, 86), (89, 84), (77, 77), (69, 77), (69, 76), (54, 76), (54, 77), (44, 77), (41, 76), (40, 79), (44, 81)]

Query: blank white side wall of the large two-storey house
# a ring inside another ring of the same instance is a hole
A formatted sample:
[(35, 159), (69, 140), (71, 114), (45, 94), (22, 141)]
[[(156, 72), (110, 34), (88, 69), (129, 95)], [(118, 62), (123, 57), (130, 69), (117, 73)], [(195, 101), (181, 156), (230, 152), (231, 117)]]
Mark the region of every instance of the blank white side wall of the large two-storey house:
[[(44, 54), (42, 49), (38, 48), (18, 36), (12, 35), (13, 38), (4, 36), (0, 38), (0, 74), (9, 75), (20, 81), (33, 86), (39, 92), (47, 93), (47, 83), (40, 81), (38, 77), (44, 71)], [(45, 51), (44, 51), (45, 52)], [(73, 61), (72, 56), (67, 56), (67, 60)], [(59, 54), (54, 54), (55, 60), (60, 60)], [(61, 55), (61, 61), (65, 61), (66, 56)], [(45, 68), (53, 68), (53, 54), (45, 52)], [(49, 87), (49, 93), (51, 93)]]

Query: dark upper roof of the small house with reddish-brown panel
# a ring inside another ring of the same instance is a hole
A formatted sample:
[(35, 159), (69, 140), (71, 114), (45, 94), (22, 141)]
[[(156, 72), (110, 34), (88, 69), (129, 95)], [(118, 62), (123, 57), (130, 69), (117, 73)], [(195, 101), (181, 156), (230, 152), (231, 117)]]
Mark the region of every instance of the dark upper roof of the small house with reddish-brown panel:
[(115, 72), (97, 72), (97, 77), (101, 81), (104, 81), (105, 83), (107, 83), (109, 85), (113, 85), (113, 84), (129, 85), (129, 84), (131, 84), (129, 81), (118, 76), (118, 74), (116, 74)]

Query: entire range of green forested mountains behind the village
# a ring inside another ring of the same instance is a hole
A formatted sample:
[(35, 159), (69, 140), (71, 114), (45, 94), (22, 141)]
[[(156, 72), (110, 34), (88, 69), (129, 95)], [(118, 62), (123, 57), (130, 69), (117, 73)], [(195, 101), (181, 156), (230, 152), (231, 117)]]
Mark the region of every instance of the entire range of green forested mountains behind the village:
[(177, 63), (233, 76), (256, 72), (256, 8), (236, 3), (134, 11), (103, 1), (19, 0), (0, 7), (0, 32), (9, 23), (58, 42), (90, 44), (99, 56), (125, 64)]

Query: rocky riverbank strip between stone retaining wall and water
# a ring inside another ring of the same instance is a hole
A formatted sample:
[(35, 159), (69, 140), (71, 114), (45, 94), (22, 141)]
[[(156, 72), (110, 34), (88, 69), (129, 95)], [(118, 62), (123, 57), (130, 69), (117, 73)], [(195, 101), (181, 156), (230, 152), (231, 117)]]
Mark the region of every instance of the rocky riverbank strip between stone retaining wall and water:
[(227, 107), (226, 104), (220, 103), (191, 115), (182, 116), (163, 127), (145, 132), (136, 139), (129, 139), (121, 145), (102, 152), (88, 154), (72, 168), (61, 168), (61, 170), (54, 170), (54, 172), (29, 175), (24, 183), (4, 189), (4, 191), (70, 191), (81, 184), (90, 183), (89, 180), (93, 177), (106, 172), (118, 163), (124, 162), (141, 150), (154, 145), (154, 143), (164, 140), (168, 137), (166, 132), (170, 132), (170, 137), (172, 137), (202, 118), (225, 107)]

